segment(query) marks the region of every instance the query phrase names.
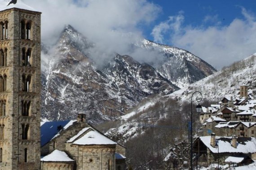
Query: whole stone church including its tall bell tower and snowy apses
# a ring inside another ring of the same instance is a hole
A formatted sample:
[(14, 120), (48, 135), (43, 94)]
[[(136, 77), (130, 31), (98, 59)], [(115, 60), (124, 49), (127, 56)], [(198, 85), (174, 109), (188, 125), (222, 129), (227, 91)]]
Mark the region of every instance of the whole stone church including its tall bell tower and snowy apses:
[(124, 170), (125, 148), (83, 114), (40, 126), (40, 55), (41, 13), (22, 0), (1, 6), (0, 170)]

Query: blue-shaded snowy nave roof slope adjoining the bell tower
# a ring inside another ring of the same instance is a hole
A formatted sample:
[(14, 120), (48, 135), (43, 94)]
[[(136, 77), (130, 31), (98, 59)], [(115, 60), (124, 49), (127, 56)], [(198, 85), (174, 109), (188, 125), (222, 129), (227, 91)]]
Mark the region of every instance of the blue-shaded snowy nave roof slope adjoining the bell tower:
[[(45, 122), (41, 125), (41, 146), (47, 144), (53, 138), (59, 135), (60, 128), (66, 129), (71, 126), (76, 120), (66, 120), (66, 121), (52, 121)], [(59, 127), (59, 128), (58, 128)]]

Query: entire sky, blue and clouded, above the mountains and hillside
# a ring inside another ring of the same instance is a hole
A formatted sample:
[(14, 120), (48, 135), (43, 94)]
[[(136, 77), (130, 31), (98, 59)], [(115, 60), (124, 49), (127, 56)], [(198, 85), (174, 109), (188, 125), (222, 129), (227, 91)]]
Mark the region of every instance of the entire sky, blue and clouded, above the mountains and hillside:
[(70, 24), (96, 44), (98, 60), (117, 52), (155, 61), (156, 54), (131, 52), (140, 38), (190, 51), (217, 69), (256, 53), (256, 0), (23, 1), (42, 12), (43, 43), (53, 45)]

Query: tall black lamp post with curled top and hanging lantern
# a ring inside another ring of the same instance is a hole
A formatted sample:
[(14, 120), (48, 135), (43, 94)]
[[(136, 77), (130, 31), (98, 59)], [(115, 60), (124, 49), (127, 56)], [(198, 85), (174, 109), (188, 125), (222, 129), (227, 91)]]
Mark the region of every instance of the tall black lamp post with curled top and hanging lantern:
[(191, 116), (190, 116), (190, 168), (191, 168), (191, 170), (193, 170), (193, 128), (192, 128), (192, 99), (193, 99), (193, 95), (195, 94), (195, 93), (199, 93), (200, 95), (201, 95), (201, 98), (199, 97), (199, 96), (197, 96), (196, 97), (196, 101), (198, 102), (198, 105), (196, 106), (196, 112), (197, 113), (200, 113), (201, 111), (202, 111), (202, 106), (201, 105), (199, 105), (199, 102), (201, 102), (202, 101), (202, 99), (203, 99), (203, 95), (202, 95), (202, 93), (201, 92), (199, 92), (199, 91), (195, 91), (193, 94), (192, 94), (192, 96), (191, 96)]

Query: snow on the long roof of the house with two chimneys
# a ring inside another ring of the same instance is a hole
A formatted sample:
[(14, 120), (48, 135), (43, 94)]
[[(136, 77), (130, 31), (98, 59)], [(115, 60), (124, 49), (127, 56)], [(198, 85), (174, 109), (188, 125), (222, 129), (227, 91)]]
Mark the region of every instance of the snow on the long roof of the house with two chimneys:
[[(199, 139), (212, 153), (218, 153), (218, 149), (210, 144), (211, 136), (201, 136)], [(219, 153), (256, 153), (256, 138), (254, 137), (238, 137), (237, 148), (231, 145), (232, 137), (216, 136), (216, 139), (218, 139)]]

